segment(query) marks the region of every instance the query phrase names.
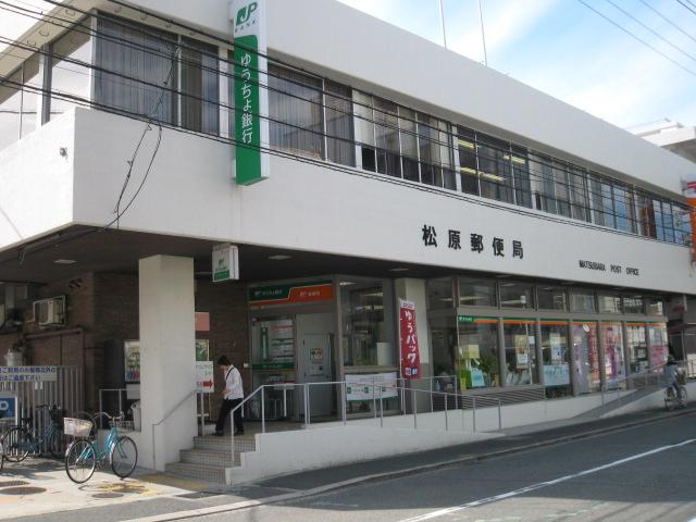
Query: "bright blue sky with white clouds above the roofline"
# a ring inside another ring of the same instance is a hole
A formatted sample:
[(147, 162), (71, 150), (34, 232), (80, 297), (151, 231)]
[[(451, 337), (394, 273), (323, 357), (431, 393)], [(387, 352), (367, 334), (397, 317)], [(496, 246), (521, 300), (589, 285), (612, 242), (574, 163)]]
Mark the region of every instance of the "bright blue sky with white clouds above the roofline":
[[(339, 1), (443, 45), (438, 0)], [(681, 1), (481, 0), (488, 66), (623, 128), (696, 125), (696, 0)], [(483, 63), (477, 0), (443, 9), (447, 47)]]

